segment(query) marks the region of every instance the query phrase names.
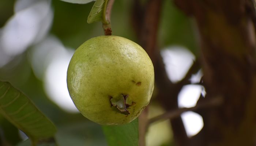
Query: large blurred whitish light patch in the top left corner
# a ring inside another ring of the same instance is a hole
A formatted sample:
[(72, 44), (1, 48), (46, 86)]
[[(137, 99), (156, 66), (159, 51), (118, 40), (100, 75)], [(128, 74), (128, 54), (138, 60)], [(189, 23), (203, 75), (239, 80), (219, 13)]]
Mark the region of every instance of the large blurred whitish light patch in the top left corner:
[(23, 53), (30, 45), (41, 41), (53, 20), (50, 0), (18, 0), (15, 14), (2, 28), (0, 34), (0, 67), (15, 55)]

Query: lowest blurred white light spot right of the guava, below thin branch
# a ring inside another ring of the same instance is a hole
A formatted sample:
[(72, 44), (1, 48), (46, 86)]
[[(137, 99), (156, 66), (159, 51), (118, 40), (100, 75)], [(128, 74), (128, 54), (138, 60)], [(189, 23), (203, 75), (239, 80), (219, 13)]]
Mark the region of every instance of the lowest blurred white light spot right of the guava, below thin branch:
[(203, 128), (203, 118), (199, 114), (188, 111), (181, 114), (188, 137), (196, 135)]

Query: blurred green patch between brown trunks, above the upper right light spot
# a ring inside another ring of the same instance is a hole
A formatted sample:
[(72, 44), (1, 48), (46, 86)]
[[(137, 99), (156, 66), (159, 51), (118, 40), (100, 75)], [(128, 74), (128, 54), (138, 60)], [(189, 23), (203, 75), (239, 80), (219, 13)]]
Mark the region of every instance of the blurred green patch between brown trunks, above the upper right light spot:
[(161, 47), (183, 46), (197, 55), (198, 46), (191, 18), (178, 9), (172, 0), (163, 3), (158, 39)]

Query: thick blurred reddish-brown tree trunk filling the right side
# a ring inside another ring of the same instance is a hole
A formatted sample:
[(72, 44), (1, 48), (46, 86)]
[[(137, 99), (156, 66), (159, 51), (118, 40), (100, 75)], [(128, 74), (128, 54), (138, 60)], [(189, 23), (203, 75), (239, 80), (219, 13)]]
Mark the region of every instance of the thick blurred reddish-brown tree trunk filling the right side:
[[(207, 100), (216, 96), (225, 100), (218, 108), (197, 111), (203, 117), (204, 127), (194, 138), (196, 142), (189, 145), (255, 145), (253, 1), (174, 1), (182, 11), (192, 15), (197, 24)], [(245, 136), (245, 133), (249, 134)]]

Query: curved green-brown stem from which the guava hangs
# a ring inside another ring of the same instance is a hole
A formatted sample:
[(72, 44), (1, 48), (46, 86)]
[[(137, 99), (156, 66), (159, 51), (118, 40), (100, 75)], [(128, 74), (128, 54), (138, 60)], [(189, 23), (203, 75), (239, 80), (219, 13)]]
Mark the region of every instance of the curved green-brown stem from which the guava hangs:
[(102, 27), (105, 35), (112, 35), (110, 16), (114, 0), (106, 0), (104, 3), (103, 16), (102, 16)]

